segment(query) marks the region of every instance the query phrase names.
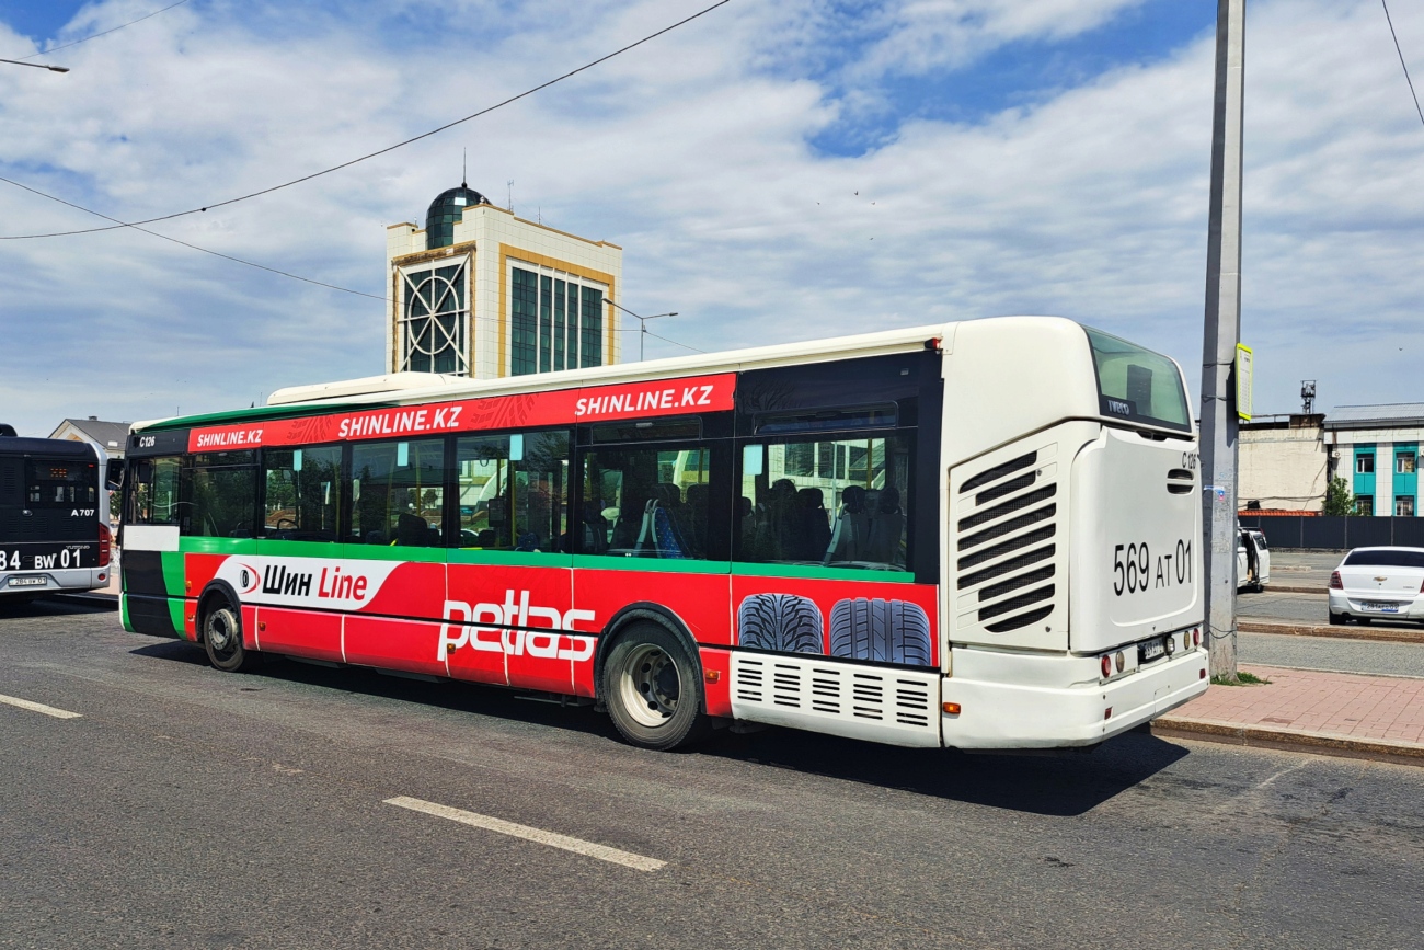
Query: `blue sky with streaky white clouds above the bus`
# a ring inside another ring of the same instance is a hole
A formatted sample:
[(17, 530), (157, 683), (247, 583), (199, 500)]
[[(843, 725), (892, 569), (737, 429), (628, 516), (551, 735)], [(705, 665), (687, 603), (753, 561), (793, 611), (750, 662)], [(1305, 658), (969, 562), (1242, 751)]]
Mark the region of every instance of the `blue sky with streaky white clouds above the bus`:
[[(124, 219), (211, 204), (535, 85), (708, 0), (0, 0), (0, 175)], [(384, 226), (459, 181), (625, 248), (702, 349), (1061, 313), (1195, 389), (1213, 0), (733, 0), (537, 97), (155, 226), (383, 292)], [(1424, 13), (1394, 10), (1424, 75)], [(1377, 4), (1253, 0), (1243, 338), (1257, 407), (1414, 402), (1424, 127)], [(859, 192), (859, 194), (857, 194)], [(874, 204), (871, 204), (874, 202)], [(0, 182), (0, 234), (94, 218)], [(131, 231), (0, 241), (0, 419), (145, 419), (382, 372), (382, 303)], [(679, 350), (649, 346), (649, 357)]]

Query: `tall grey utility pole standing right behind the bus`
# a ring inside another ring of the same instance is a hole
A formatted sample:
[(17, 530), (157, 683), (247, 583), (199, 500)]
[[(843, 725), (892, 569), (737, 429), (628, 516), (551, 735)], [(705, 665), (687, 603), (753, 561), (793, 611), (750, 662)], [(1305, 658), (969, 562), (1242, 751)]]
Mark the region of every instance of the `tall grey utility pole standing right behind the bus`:
[(1216, 1), (1212, 212), (1202, 339), (1202, 554), (1213, 677), (1236, 678), (1236, 395), (1242, 309), (1242, 125), (1246, 0)]

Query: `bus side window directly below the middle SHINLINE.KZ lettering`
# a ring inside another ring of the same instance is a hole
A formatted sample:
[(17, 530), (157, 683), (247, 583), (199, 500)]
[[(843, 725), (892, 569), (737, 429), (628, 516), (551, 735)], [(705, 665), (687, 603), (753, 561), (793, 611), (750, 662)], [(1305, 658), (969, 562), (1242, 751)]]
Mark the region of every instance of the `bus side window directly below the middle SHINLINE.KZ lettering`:
[(352, 447), (353, 544), (443, 547), (443, 523), (444, 440)]

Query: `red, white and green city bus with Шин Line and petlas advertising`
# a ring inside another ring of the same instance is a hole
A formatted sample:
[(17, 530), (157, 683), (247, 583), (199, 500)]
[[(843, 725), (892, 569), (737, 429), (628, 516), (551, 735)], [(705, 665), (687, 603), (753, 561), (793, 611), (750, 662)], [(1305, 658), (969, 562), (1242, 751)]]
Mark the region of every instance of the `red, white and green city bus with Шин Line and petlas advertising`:
[(651, 749), (1092, 746), (1209, 682), (1186, 392), (1027, 316), (278, 390), (134, 426), (122, 622), (594, 704)]

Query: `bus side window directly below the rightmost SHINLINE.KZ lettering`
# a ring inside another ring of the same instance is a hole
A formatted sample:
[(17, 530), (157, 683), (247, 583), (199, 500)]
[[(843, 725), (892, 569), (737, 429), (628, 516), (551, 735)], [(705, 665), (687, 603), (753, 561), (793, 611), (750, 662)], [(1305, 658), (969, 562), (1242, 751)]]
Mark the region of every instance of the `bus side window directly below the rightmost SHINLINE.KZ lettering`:
[(598, 449), (584, 456), (581, 554), (706, 560), (709, 449)]

